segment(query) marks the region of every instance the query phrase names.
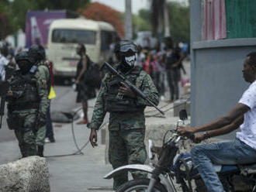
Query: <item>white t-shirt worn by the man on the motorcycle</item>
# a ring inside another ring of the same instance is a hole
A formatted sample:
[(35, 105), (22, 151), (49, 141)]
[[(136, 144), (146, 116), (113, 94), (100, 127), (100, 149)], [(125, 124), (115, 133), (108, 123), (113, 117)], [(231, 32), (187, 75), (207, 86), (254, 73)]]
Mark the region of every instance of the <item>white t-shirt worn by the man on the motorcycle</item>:
[(244, 123), (240, 125), (237, 139), (256, 149), (256, 81), (244, 91), (239, 103), (247, 105), (251, 110), (244, 114)]

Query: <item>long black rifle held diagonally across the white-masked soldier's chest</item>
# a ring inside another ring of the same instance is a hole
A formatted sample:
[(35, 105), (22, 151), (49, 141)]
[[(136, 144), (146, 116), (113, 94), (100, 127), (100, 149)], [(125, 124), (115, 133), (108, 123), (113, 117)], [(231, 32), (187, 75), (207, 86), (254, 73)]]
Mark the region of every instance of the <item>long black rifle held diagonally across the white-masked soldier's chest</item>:
[[(109, 63), (105, 62), (102, 65), (103, 67), (107, 67), (107, 69), (112, 73), (115, 74), (117, 77), (119, 77), (121, 79), (121, 81), (126, 84), (128, 87), (131, 88), (131, 90), (133, 90), (133, 92), (135, 94), (137, 94), (140, 98), (143, 98), (144, 100), (146, 100), (147, 102), (150, 103), (150, 105), (152, 105), (154, 108), (157, 109), (157, 111), (161, 112), (162, 115), (164, 115), (164, 111), (161, 111), (159, 108), (157, 108), (156, 105), (154, 105), (154, 103), (152, 101), (150, 101), (149, 98), (147, 98), (147, 96), (144, 94), (144, 92), (140, 91), (140, 89), (138, 89), (134, 84), (132, 84), (120, 71), (116, 70), (114, 67), (112, 67)], [(102, 69), (101, 68), (101, 69)]]

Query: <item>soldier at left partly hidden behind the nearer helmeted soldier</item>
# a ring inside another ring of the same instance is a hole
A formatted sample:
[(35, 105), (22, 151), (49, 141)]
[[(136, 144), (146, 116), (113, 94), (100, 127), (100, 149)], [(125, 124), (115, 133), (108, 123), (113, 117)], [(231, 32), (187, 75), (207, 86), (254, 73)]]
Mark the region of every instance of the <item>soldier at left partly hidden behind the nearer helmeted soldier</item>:
[[(33, 45), (29, 48), (29, 56), (33, 57), (35, 60), (34, 66), (38, 71), (38, 76), (40, 77), (43, 87), (48, 95), (50, 93), (50, 67), (46, 62), (45, 50), (43, 46), (40, 45)], [(44, 95), (45, 96), (45, 95)], [(47, 103), (44, 103), (47, 101)], [(36, 128), (36, 146), (38, 149), (38, 156), (43, 156), (43, 146), (44, 146), (44, 139), (47, 132), (46, 129), (46, 119), (47, 119), (47, 110), (49, 106), (49, 100), (43, 99), (43, 103), (40, 105), (39, 112), (37, 115), (37, 119), (43, 119), (43, 121), (39, 121), (37, 128)]]

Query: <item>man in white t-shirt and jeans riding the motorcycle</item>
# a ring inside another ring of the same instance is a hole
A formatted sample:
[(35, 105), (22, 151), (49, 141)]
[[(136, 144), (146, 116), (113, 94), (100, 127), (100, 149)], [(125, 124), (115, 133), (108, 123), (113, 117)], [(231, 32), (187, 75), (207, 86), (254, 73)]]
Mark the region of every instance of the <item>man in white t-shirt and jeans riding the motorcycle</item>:
[(192, 161), (197, 166), (208, 191), (211, 192), (224, 191), (213, 169), (213, 163), (234, 165), (256, 162), (256, 52), (247, 55), (242, 71), (244, 80), (251, 85), (227, 115), (216, 118), (206, 125), (178, 128), (181, 135), (204, 132), (195, 135), (194, 142), (201, 142), (209, 137), (227, 134), (240, 127), (240, 132), (237, 132), (234, 141), (195, 146), (191, 150)]

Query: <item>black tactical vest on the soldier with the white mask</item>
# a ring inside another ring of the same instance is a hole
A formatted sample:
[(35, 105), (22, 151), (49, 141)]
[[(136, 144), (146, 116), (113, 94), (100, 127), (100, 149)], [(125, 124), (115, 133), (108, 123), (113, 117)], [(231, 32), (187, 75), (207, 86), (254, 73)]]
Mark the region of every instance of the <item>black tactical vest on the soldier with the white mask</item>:
[[(129, 74), (126, 74), (127, 79), (136, 84), (137, 77), (140, 75), (140, 67), (134, 67)], [(112, 81), (106, 82), (106, 93), (104, 95), (105, 110), (109, 112), (138, 112), (144, 111), (143, 105), (137, 105), (137, 98), (130, 98), (123, 95), (118, 95), (120, 81), (117, 77), (112, 76)]]

